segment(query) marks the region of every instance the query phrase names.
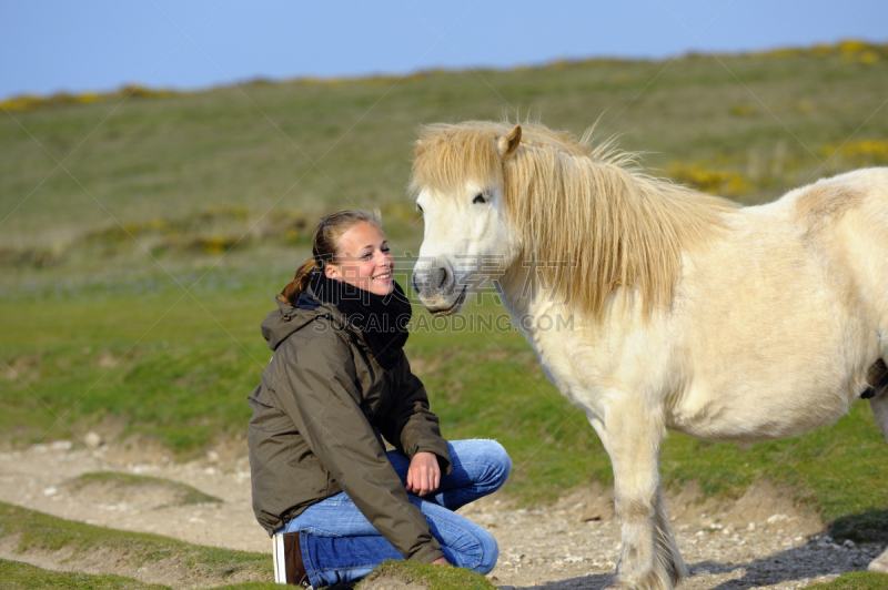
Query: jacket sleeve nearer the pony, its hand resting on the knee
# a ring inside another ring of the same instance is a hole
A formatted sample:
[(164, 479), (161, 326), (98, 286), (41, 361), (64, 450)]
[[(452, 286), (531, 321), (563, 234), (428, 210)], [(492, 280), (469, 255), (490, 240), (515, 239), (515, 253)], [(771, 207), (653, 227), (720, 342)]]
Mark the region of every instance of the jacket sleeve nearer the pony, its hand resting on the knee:
[(410, 363), (404, 353), (401, 353), (398, 364), (401, 388), (389, 410), (386, 424), (386, 438), (413, 458), (420, 451), (437, 455), (441, 471), (451, 472), (451, 456), (447, 452), (447, 441), (441, 436), (437, 416), (428, 409), (428, 396), (423, 382), (410, 369)]

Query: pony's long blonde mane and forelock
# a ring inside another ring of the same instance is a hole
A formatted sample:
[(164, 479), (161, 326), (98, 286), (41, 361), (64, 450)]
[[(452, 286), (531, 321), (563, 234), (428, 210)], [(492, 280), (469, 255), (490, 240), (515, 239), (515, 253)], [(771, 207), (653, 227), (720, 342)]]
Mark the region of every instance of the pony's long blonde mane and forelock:
[(502, 186), (523, 235), (522, 263), (564, 301), (601, 318), (620, 287), (645, 311), (672, 301), (682, 252), (723, 226), (729, 201), (652, 177), (637, 154), (593, 146), (539, 124), (523, 124), (517, 151), (503, 162), (497, 141), (508, 123), (471, 121), (422, 128), (411, 189), (458, 194), (466, 182)]

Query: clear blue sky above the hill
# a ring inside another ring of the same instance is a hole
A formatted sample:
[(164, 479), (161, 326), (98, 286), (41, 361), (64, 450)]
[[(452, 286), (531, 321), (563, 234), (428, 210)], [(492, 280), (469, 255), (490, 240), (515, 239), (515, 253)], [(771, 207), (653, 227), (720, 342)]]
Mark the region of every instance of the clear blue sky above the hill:
[(885, 0), (0, 1), (0, 98), (861, 39)]

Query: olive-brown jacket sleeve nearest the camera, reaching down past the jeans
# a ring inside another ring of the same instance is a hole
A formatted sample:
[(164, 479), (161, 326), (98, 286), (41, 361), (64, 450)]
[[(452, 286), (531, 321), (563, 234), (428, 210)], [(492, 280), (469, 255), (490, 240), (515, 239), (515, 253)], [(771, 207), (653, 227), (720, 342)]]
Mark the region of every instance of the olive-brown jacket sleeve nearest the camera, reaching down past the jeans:
[(311, 451), (405, 559), (443, 557), (361, 410), (354, 362), (342, 337), (332, 328), (310, 339), (291, 336), (279, 352), (286, 357), (278, 397)]

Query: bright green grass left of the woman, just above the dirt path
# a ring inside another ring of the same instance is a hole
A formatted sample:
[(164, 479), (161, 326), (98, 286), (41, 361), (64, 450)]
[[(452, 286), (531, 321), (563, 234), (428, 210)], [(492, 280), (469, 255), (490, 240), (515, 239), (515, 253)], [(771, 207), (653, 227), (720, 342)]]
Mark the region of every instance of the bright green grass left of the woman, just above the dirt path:
[(3, 305), (0, 429), (71, 439), (85, 430), (68, 425), (113, 417), (178, 450), (235, 436), (271, 354), (258, 336), (271, 297), (204, 295)]

